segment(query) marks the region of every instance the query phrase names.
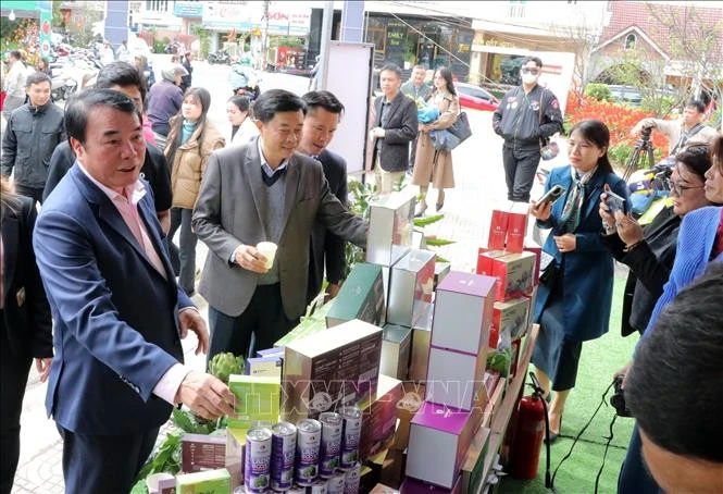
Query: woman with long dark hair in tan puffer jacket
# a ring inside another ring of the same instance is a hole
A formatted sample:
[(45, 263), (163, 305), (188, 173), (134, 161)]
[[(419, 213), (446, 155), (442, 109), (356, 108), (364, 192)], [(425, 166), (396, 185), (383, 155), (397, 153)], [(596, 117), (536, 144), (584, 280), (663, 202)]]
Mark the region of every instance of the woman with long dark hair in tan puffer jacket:
[[(196, 244), (190, 220), (201, 188), (201, 178), (211, 153), (224, 147), (221, 132), (207, 120), (211, 95), (202, 87), (190, 87), (184, 96), (180, 111), (171, 119), (171, 132), (165, 156), (171, 164), (171, 230), (169, 250), (178, 284), (188, 296), (196, 292)], [(173, 237), (180, 227), (179, 248)]]

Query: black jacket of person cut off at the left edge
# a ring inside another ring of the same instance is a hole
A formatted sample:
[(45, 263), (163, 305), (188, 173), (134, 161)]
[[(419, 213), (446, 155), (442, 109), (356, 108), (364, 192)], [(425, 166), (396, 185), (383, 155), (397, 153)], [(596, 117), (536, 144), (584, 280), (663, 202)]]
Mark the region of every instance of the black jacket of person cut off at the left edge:
[(30, 198), (3, 194), (2, 201), (3, 331), (14, 354), (52, 357), (50, 305), (33, 251), (38, 213)]

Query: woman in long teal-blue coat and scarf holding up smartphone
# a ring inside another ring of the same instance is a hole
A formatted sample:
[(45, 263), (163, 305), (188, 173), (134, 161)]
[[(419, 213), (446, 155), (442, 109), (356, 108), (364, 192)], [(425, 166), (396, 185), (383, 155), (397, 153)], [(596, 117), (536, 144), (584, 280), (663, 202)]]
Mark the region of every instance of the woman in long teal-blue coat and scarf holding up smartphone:
[(570, 164), (553, 169), (546, 193), (564, 188), (558, 200), (531, 201), (540, 229), (552, 229), (543, 250), (553, 260), (544, 268), (535, 304), (540, 324), (532, 361), (546, 392), (554, 391), (549, 419), (550, 440), (562, 425), (565, 402), (577, 376), (583, 342), (608, 332), (612, 301), (613, 259), (600, 238), (598, 213), (606, 185), (627, 198), (627, 186), (608, 159), (610, 131), (598, 120), (585, 120), (571, 131)]

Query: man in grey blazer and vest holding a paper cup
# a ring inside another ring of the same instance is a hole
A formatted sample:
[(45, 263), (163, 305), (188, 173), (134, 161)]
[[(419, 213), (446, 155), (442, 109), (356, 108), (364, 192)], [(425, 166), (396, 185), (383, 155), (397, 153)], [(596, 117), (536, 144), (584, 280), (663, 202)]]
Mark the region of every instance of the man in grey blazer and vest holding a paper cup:
[[(214, 152), (194, 210), (194, 230), (209, 247), (199, 292), (209, 301), (211, 350), (269, 348), (307, 307), (309, 239), (316, 220), (341, 238), (366, 244), (367, 225), (329, 190), (322, 165), (295, 152), (306, 106), (283, 89), (253, 104), (260, 136)], [(278, 246), (271, 268), (257, 249)]]

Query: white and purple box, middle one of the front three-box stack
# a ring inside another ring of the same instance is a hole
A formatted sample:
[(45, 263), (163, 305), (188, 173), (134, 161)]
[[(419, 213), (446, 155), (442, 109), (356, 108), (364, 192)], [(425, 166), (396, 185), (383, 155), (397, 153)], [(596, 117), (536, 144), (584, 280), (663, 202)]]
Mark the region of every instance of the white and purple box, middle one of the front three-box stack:
[(433, 346), (429, 349), (425, 399), (461, 410), (484, 407), (486, 394), (483, 379), (486, 365), (485, 351), (470, 355)]

